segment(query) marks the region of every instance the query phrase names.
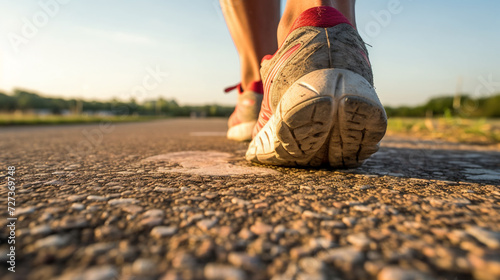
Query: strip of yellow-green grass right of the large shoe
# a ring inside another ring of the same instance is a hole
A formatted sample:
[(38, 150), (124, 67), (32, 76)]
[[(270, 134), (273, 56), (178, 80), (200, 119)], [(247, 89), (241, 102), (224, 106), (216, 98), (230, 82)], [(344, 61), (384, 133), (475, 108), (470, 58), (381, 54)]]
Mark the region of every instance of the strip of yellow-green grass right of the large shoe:
[(390, 118), (387, 133), (460, 143), (500, 143), (500, 120), (444, 118)]

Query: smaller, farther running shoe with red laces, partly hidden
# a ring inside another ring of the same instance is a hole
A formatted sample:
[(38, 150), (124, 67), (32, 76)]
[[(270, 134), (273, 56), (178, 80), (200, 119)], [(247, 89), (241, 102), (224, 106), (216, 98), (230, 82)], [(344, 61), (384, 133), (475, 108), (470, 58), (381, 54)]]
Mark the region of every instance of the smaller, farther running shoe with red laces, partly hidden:
[(262, 104), (262, 81), (251, 83), (247, 89), (243, 89), (239, 84), (225, 89), (225, 92), (234, 89), (238, 90), (238, 102), (233, 114), (229, 117), (227, 138), (236, 141), (250, 141)]

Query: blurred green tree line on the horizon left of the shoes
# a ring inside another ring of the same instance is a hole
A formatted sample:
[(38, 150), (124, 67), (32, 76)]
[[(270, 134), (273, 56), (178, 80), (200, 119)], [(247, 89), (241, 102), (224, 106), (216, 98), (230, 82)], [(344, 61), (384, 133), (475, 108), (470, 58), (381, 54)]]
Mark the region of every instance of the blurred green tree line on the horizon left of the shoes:
[(234, 107), (219, 105), (180, 106), (175, 100), (149, 100), (137, 103), (113, 99), (109, 102), (43, 97), (26, 90), (15, 89), (12, 95), (0, 92), (0, 112), (40, 112), (51, 114), (109, 114), (228, 117)]

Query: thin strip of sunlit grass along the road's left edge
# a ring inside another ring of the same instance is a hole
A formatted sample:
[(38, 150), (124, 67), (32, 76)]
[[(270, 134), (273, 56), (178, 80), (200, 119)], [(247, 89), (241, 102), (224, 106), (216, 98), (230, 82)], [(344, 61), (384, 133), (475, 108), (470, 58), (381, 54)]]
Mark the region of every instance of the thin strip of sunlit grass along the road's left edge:
[(31, 115), (31, 114), (0, 114), (0, 126), (13, 125), (59, 125), (59, 124), (83, 124), (83, 123), (99, 123), (103, 121), (119, 123), (119, 122), (140, 122), (165, 117), (157, 116), (85, 116), (85, 115)]

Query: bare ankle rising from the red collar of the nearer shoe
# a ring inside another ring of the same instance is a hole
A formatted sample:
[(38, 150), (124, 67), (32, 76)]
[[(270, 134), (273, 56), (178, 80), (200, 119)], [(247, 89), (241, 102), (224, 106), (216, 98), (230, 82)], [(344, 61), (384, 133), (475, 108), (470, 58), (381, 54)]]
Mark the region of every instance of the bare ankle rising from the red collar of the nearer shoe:
[(288, 31), (292, 27), (295, 19), (305, 10), (317, 6), (330, 6), (341, 12), (354, 26), (356, 19), (354, 6), (356, 0), (288, 0), (283, 17), (278, 26), (278, 44), (286, 39)]

